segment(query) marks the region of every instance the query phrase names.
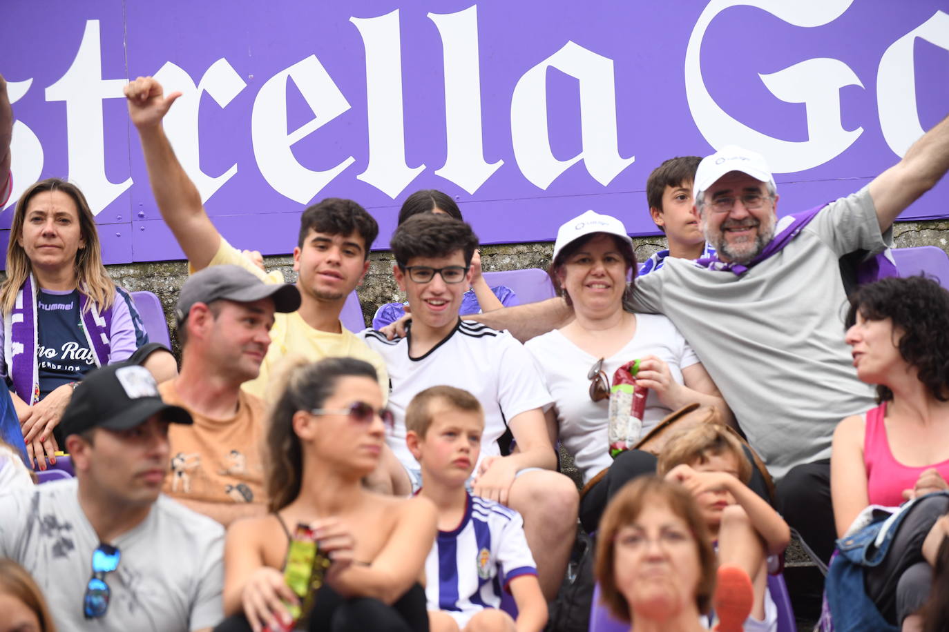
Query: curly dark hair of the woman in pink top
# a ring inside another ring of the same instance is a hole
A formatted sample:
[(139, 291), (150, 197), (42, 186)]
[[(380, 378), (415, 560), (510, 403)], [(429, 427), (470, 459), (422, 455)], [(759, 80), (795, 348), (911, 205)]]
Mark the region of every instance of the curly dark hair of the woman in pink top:
[[(861, 285), (849, 298), (847, 329), (857, 314), (865, 320), (889, 318), (902, 359), (919, 371), (929, 394), (949, 401), (949, 292), (924, 276), (890, 277)], [(877, 399), (891, 401), (893, 391), (878, 385)]]

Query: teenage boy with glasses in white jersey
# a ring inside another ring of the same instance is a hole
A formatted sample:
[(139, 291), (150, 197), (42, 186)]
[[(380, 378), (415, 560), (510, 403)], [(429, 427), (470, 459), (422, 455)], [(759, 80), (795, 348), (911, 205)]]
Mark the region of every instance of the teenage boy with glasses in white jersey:
[[(405, 447), (406, 406), (419, 391), (437, 385), (471, 391), (486, 417), (474, 494), (524, 516), (541, 587), (552, 600), (567, 567), (578, 496), (570, 479), (551, 471), (557, 456), (542, 412), (550, 395), (530, 355), (510, 334), (457, 316), (477, 247), (471, 226), (422, 213), (399, 226), (391, 246), (393, 272), (412, 308), (412, 325), (398, 340), (363, 333), (385, 359), (391, 378), (389, 406), (396, 424), (389, 445), (418, 487), (419, 464)], [(502, 457), (497, 440), (509, 428), (517, 451)]]

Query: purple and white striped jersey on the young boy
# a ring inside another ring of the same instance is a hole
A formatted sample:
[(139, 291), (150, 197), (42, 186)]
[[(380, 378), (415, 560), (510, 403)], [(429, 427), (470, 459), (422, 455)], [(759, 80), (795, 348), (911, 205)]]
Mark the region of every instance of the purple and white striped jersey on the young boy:
[(521, 515), (469, 494), (461, 524), (439, 531), (425, 559), (428, 609), (464, 627), (481, 610), (500, 607), (512, 579), (536, 574)]

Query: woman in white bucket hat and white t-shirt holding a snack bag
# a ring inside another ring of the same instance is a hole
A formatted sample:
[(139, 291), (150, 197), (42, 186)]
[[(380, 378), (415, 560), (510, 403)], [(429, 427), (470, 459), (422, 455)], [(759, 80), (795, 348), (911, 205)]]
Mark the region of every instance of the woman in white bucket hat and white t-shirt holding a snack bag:
[[(552, 442), (573, 455), (586, 485), (580, 519), (594, 531), (607, 500), (623, 483), (656, 472), (656, 458), (629, 450), (609, 456), (608, 399), (594, 401), (590, 375), (607, 380), (623, 364), (640, 360), (637, 384), (649, 388), (642, 435), (670, 412), (698, 402), (713, 405), (734, 424), (732, 413), (689, 343), (665, 316), (623, 310), (634, 292), (633, 242), (623, 223), (592, 210), (557, 231), (549, 274), (554, 287), (573, 306), (567, 326), (530, 339), (525, 346), (547, 383), (554, 405), (546, 412)], [(595, 479), (605, 472), (600, 479)]]

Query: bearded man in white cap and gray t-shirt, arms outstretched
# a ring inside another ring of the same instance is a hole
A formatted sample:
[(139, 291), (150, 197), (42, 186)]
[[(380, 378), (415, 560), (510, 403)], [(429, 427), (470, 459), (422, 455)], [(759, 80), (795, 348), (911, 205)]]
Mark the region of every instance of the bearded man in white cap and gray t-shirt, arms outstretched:
[[(827, 561), (836, 537), (830, 442), (845, 417), (874, 406), (844, 343), (841, 257), (881, 252), (903, 209), (949, 171), (949, 118), (862, 190), (777, 220), (761, 155), (735, 146), (704, 158), (694, 198), (716, 257), (666, 260), (636, 280), (629, 309), (669, 316), (778, 479), (785, 519)], [(562, 327), (558, 299), (474, 316), (525, 340)]]

